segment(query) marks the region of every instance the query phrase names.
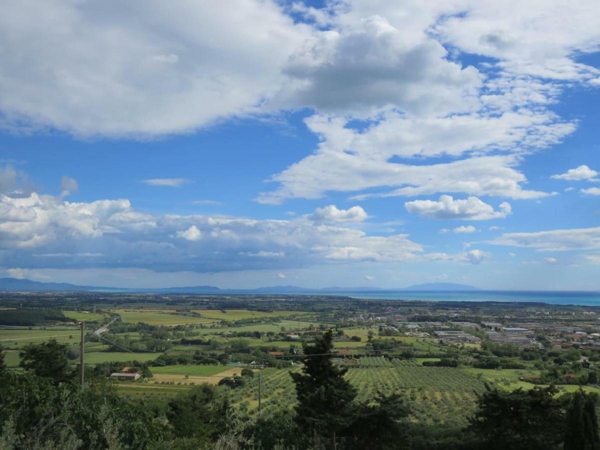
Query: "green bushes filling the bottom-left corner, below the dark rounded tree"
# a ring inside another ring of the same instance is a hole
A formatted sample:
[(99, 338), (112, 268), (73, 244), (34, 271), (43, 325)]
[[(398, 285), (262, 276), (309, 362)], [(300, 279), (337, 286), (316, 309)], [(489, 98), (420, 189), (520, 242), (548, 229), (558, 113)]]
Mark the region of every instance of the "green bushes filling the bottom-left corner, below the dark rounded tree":
[(148, 408), (118, 397), (106, 383), (82, 390), (32, 372), (0, 380), (0, 430), (15, 449), (149, 448), (163, 436)]

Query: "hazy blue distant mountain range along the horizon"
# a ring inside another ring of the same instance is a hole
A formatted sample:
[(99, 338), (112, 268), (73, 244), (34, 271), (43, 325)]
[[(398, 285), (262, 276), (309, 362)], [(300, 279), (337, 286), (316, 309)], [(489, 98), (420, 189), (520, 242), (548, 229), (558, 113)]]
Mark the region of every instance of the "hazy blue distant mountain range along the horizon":
[(78, 286), (70, 283), (42, 283), (19, 278), (0, 278), (0, 290), (3, 291), (27, 291), (27, 292), (157, 292), (157, 293), (263, 293), (263, 294), (328, 294), (328, 293), (349, 293), (349, 292), (395, 292), (395, 291), (466, 291), (479, 290), (477, 287), (467, 284), (456, 283), (425, 283), (414, 284), (409, 287), (395, 289), (384, 289), (382, 287), (323, 287), (321, 289), (309, 289), (298, 286), (267, 286), (257, 289), (220, 289), (215, 286), (185, 286), (185, 287), (164, 287), (161, 289), (126, 289), (120, 287), (101, 287), (101, 286)]

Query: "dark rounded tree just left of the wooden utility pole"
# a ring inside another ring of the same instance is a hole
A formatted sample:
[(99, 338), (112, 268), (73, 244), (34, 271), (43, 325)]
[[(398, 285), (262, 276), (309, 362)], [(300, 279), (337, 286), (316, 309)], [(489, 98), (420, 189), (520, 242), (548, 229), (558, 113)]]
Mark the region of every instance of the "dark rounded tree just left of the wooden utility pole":
[(55, 339), (41, 344), (27, 344), (19, 353), (20, 366), (33, 371), (39, 377), (51, 378), (55, 383), (69, 381), (73, 370), (69, 367), (67, 346)]

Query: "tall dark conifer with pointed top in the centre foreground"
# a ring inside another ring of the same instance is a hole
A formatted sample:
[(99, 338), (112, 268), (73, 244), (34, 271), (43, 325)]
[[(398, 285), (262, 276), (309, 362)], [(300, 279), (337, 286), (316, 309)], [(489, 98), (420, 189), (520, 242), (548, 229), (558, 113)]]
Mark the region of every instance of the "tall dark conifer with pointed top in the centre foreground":
[(333, 350), (331, 330), (317, 337), (313, 346), (304, 346), (302, 373), (291, 373), (296, 385), (296, 423), (306, 436), (312, 437), (314, 448), (329, 441), (335, 448), (335, 436), (352, 420), (350, 405), (356, 389), (344, 379), (347, 369), (331, 362)]

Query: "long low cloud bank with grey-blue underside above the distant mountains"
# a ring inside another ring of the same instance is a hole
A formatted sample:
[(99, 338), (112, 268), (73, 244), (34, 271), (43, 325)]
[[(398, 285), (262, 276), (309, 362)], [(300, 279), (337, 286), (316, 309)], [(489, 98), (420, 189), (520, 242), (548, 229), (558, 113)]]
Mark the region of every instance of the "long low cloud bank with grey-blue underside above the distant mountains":
[[(252, 220), (150, 215), (130, 202), (67, 202), (32, 193), (0, 195), (0, 265), (47, 268), (139, 267), (159, 271), (232, 271), (318, 262), (431, 260), (406, 234), (370, 236), (335, 224), (365, 215), (317, 209), (323, 219)], [(445, 257), (470, 262), (463, 254)]]

